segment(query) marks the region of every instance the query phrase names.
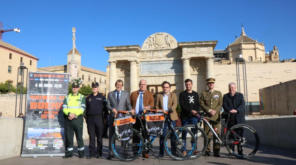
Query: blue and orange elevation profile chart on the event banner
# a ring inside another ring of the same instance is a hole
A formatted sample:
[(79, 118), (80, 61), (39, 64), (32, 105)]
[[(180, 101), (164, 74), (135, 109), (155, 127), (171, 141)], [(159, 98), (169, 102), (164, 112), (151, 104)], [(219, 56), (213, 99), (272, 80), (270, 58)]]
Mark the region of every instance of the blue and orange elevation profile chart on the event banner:
[(28, 128), (27, 138), (62, 138), (64, 128)]

